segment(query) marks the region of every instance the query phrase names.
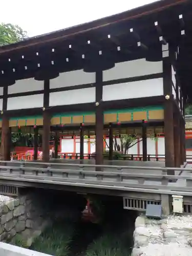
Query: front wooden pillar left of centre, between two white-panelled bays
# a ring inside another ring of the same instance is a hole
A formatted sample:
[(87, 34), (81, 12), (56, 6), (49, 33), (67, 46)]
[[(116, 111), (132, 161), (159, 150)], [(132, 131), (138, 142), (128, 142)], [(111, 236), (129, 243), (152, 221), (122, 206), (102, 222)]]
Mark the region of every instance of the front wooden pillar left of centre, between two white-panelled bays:
[(50, 127), (51, 127), (51, 116), (48, 112), (49, 109), (49, 88), (50, 80), (44, 81), (44, 111), (43, 116), (43, 128), (42, 128), (42, 161), (49, 162), (49, 140), (50, 140)]

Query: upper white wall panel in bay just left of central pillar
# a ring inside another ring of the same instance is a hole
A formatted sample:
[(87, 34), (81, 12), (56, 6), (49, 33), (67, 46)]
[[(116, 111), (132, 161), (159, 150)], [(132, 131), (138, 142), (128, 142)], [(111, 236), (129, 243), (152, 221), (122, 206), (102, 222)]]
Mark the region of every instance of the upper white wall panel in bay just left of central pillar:
[(50, 80), (50, 89), (77, 86), (95, 82), (95, 73), (86, 73), (83, 70), (60, 73), (55, 79)]

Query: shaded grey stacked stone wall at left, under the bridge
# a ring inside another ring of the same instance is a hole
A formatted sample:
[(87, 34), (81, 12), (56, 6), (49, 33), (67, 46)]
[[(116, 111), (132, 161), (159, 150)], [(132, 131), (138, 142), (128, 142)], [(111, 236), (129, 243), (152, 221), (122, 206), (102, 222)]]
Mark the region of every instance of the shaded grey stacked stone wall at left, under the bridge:
[(30, 246), (48, 224), (43, 207), (34, 204), (30, 195), (1, 203), (0, 216), (0, 241), (12, 244), (19, 237)]

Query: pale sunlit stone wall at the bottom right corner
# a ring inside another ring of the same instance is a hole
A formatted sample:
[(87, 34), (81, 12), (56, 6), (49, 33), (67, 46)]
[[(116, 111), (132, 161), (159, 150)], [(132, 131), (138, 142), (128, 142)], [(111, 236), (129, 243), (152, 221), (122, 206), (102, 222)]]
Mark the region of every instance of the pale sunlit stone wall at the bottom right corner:
[(135, 222), (132, 256), (191, 256), (192, 216), (162, 220), (139, 216)]

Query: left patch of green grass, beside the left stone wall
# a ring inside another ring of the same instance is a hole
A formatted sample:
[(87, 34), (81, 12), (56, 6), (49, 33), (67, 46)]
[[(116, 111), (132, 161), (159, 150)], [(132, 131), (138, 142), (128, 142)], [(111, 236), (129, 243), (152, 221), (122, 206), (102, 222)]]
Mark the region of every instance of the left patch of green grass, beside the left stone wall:
[(54, 223), (35, 239), (30, 249), (54, 256), (67, 256), (70, 249), (68, 245), (74, 233), (74, 225), (71, 222)]

